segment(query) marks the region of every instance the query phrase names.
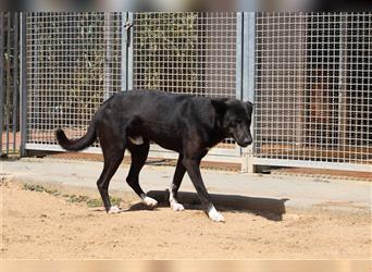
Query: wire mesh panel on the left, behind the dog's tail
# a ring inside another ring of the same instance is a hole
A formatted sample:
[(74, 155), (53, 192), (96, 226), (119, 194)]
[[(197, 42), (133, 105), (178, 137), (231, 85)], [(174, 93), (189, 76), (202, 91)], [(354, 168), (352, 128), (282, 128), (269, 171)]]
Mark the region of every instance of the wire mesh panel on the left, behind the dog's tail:
[(54, 129), (85, 134), (121, 89), (120, 13), (28, 13), (27, 143), (55, 145)]

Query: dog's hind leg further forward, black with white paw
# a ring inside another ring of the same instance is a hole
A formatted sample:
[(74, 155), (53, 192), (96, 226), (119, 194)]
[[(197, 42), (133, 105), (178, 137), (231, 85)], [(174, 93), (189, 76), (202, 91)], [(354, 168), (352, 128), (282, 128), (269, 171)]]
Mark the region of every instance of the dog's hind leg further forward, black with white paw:
[(139, 172), (147, 160), (150, 144), (148, 140), (145, 140), (140, 146), (129, 144), (128, 149), (131, 151), (132, 164), (129, 173), (126, 177), (126, 182), (147, 206), (154, 207), (158, 205), (158, 201), (151, 197), (148, 197), (139, 186)]

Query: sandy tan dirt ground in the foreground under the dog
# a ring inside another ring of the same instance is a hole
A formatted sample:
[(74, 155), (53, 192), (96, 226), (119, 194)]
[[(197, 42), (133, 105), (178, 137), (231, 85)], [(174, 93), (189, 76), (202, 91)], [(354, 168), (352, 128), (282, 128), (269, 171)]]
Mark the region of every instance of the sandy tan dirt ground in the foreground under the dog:
[[(62, 190), (62, 188), (58, 188)], [(63, 188), (75, 194), (76, 188)], [(79, 195), (98, 197), (78, 188)], [(213, 223), (199, 209), (146, 210), (120, 193), (126, 211), (71, 202), (22, 184), (1, 183), (4, 259), (340, 259), (371, 258), (369, 211), (313, 207), (282, 219), (224, 211)]]

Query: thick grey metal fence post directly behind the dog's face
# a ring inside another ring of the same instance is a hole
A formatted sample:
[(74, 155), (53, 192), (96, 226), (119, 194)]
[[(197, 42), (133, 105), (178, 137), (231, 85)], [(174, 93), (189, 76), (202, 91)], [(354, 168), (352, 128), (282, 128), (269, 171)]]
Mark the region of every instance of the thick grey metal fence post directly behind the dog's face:
[[(255, 103), (255, 57), (256, 57), (256, 14), (243, 13), (243, 94), (244, 101)], [(252, 116), (251, 132), (255, 141), (255, 118)], [(241, 171), (253, 173), (253, 146), (243, 149)]]

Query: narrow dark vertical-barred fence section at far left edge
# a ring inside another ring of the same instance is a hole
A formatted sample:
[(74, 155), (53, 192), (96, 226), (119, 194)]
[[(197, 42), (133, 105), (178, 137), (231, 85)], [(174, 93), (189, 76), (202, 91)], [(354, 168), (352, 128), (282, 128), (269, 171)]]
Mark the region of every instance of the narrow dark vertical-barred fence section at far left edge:
[(18, 154), (18, 13), (0, 12), (0, 157)]

